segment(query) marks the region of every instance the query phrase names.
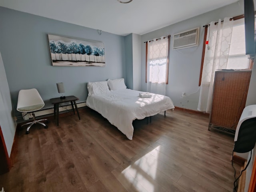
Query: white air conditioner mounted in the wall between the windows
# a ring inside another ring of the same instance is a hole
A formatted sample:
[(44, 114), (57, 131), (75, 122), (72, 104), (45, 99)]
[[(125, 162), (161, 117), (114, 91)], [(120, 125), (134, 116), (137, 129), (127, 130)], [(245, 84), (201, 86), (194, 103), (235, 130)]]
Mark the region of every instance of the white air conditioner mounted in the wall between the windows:
[(172, 50), (198, 46), (200, 27), (174, 34)]

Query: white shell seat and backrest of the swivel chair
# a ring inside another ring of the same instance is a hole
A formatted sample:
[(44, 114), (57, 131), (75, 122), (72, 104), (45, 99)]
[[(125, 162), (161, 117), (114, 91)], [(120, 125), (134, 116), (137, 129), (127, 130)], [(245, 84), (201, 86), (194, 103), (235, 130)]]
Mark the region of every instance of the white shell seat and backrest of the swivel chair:
[(35, 88), (19, 91), (17, 111), (33, 112), (41, 109), (43, 106), (44, 101)]

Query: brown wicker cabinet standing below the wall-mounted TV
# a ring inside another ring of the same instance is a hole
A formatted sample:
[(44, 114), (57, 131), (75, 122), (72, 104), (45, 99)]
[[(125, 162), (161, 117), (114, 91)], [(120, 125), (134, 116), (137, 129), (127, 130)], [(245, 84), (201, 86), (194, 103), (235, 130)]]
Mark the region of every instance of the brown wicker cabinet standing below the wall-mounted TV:
[(245, 107), (251, 70), (215, 72), (209, 127), (235, 133)]

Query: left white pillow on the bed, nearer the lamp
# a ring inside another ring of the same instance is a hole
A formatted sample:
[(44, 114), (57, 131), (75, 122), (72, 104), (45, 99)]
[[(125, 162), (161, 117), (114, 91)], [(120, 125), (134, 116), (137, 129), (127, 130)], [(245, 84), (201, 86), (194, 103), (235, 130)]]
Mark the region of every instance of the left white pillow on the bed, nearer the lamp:
[(88, 96), (110, 92), (107, 81), (88, 82)]

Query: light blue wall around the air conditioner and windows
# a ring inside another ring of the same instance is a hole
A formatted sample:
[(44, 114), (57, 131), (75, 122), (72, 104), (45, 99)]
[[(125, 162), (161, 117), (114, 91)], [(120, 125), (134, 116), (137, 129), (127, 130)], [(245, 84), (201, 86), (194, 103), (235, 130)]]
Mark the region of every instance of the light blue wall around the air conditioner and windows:
[[(166, 95), (172, 98), (174, 105), (181, 108), (197, 110), (199, 100), (199, 75), (202, 58), (202, 46), (204, 39), (204, 26), (211, 21), (218, 21), (219, 18), (233, 17), (244, 14), (244, 3), (242, 0), (219, 8), (217, 10), (207, 12), (205, 14), (178, 22), (176, 24), (155, 30), (153, 32), (142, 35), (141, 46), (141, 89), (146, 91), (145, 83), (145, 58), (146, 44), (145, 41), (161, 36), (171, 35), (170, 40), (170, 64), (169, 64), (169, 84), (166, 86)], [(181, 50), (172, 50), (173, 36), (176, 33), (183, 32), (200, 26), (200, 43), (197, 47), (185, 48)], [(181, 98), (182, 92), (186, 96)]]

